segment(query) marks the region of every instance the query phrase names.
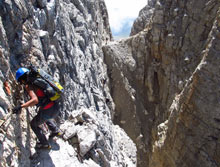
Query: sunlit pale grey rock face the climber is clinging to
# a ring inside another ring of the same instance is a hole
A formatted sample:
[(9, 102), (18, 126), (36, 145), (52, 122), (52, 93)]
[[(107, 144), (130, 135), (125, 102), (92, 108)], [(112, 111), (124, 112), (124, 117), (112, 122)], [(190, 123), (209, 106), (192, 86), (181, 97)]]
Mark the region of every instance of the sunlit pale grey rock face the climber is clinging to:
[[(111, 120), (101, 49), (111, 39), (103, 0), (0, 1), (0, 166), (136, 166), (136, 146)], [(65, 89), (63, 139), (38, 154), (29, 125), (35, 109), (11, 114), (28, 100), (15, 71), (31, 63)]]

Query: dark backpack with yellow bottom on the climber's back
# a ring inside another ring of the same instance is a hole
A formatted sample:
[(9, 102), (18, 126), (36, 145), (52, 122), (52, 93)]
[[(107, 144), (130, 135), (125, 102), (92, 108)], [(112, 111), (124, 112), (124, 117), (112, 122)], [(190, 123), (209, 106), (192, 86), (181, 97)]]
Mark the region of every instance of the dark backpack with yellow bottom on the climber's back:
[(51, 101), (57, 101), (64, 93), (64, 88), (61, 84), (42, 69), (31, 66), (29, 72), (29, 81), (32, 84), (42, 88), (48, 95)]

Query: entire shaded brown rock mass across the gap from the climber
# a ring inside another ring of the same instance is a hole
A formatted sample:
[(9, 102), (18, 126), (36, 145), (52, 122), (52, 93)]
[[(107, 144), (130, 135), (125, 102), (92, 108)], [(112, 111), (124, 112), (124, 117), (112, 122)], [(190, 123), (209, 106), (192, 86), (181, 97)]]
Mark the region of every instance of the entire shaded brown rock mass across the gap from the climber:
[(103, 48), (114, 121), (135, 141), (140, 167), (217, 167), (220, 2), (152, 4), (150, 20), (133, 26), (142, 31)]

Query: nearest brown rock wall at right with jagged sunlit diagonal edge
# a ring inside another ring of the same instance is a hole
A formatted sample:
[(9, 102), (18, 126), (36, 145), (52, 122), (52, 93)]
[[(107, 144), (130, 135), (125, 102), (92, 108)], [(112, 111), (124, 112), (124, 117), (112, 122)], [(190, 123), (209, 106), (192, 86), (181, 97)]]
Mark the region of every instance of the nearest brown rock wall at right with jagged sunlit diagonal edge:
[(202, 60), (158, 126), (150, 166), (210, 166), (220, 164), (219, 42), (220, 11)]

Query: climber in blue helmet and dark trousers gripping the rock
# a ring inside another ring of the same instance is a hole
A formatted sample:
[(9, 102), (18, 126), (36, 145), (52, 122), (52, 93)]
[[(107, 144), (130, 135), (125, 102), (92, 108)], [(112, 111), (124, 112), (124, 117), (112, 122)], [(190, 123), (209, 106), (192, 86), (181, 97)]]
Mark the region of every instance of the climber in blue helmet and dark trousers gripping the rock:
[[(58, 129), (54, 118), (59, 114), (59, 102), (50, 100), (50, 97), (55, 94), (55, 90), (42, 78), (33, 77), (27, 68), (19, 68), (16, 72), (16, 80), (23, 84), (27, 91), (30, 100), (13, 108), (13, 113), (19, 114), (22, 108), (36, 105), (38, 109), (37, 115), (31, 121), (31, 129), (34, 131), (39, 142), (36, 148), (51, 149), (49, 141), (40, 128), (40, 125), (46, 123), (51, 134), (49, 138), (60, 136), (61, 132)], [(42, 85), (46, 85), (43, 87)]]

